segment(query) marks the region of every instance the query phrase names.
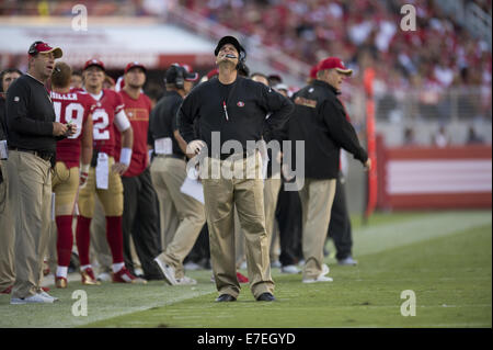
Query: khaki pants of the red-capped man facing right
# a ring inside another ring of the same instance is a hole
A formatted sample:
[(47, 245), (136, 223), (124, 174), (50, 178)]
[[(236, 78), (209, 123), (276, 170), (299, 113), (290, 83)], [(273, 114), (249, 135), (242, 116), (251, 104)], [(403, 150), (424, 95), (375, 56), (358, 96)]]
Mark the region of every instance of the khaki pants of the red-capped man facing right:
[(305, 185), (299, 191), (302, 208), (303, 279), (316, 279), (322, 273), (323, 246), (331, 221), (335, 183), (335, 179), (305, 179)]

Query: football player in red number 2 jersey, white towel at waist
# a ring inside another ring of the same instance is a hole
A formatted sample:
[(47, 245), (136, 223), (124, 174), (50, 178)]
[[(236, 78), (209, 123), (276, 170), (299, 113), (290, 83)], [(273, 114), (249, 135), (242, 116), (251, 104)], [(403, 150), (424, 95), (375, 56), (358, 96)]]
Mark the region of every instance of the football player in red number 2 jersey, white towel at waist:
[[(122, 97), (103, 89), (104, 64), (90, 59), (83, 68), (85, 90), (96, 100), (93, 120), (93, 159), (89, 177), (79, 192), (79, 218), (77, 221), (77, 247), (83, 284), (99, 284), (89, 260), (90, 225), (94, 215), (94, 195), (100, 199), (106, 216), (106, 239), (113, 256), (113, 282), (136, 283), (126, 268), (123, 256), (123, 184), (121, 176), (130, 165), (134, 134), (128, 121)], [(122, 133), (122, 150), (115, 153), (115, 128)], [(119, 161), (115, 158), (119, 156)]]

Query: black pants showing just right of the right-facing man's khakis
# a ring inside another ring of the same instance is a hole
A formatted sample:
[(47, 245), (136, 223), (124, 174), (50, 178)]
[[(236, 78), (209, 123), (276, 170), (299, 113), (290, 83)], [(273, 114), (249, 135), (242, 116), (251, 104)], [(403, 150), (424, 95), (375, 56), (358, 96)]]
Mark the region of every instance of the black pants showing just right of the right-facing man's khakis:
[(351, 256), (353, 238), (349, 213), (347, 211), (345, 181), (342, 173), (337, 177), (334, 203), (332, 204), (331, 222), (329, 224), (328, 238), (334, 240), (335, 258), (342, 260)]

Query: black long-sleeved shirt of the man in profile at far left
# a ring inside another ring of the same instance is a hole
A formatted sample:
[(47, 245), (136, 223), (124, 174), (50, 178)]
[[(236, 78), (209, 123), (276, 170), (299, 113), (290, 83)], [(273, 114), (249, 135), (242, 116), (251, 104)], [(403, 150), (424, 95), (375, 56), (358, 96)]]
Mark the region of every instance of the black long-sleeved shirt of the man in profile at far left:
[(30, 75), (21, 76), (7, 91), (9, 147), (56, 153), (53, 136), (55, 110), (45, 86)]

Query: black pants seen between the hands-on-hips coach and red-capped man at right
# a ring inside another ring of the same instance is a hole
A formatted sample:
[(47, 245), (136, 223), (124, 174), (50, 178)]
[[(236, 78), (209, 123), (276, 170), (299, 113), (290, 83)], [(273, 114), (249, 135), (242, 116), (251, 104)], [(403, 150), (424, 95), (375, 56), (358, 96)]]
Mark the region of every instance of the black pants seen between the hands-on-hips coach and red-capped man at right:
[(280, 185), (276, 219), (279, 227), (279, 262), (286, 267), (302, 259), (301, 248), (301, 201), (297, 191), (285, 191)]

